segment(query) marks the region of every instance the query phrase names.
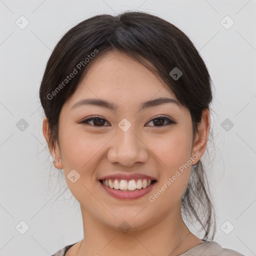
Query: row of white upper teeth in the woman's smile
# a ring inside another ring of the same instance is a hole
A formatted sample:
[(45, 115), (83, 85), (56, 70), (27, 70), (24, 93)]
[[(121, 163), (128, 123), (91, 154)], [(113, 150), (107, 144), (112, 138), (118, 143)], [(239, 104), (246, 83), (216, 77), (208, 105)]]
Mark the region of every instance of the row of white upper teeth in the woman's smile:
[(144, 179), (137, 179), (137, 182), (135, 182), (134, 179), (131, 179), (131, 180), (121, 179), (119, 182), (118, 179), (114, 179), (114, 181), (112, 181), (111, 179), (103, 179), (102, 183), (103, 185), (113, 189), (117, 189), (117, 190), (120, 189), (124, 191), (134, 191), (137, 189), (146, 188), (152, 183), (152, 180), (150, 179), (147, 180), (146, 178), (144, 178)]

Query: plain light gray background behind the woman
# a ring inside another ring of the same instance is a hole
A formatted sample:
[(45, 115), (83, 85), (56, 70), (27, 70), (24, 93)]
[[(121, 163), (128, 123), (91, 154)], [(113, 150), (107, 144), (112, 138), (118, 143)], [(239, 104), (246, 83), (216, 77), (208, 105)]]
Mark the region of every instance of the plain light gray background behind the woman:
[[(65, 181), (49, 179), (50, 169), (52, 175), (61, 170), (48, 157), (38, 89), (65, 31), (92, 15), (128, 9), (172, 22), (203, 57), (215, 86), (209, 178), (217, 215), (214, 240), (256, 255), (255, 7), (256, 0), (0, 0), (0, 255), (51, 255), (82, 239), (78, 204), (69, 200), (70, 192), (61, 195)], [(24, 24), (21, 15), (29, 21), (24, 29), (15, 23)], [(226, 15), (234, 21), (229, 29), (220, 22)], [(29, 125), (23, 131), (16, 127), (21, 118)], [(226, 118), (234, 124), (228, 131), (221, 126)], [(29, 226), (24, 234), (15, 228), (22, 220)]]

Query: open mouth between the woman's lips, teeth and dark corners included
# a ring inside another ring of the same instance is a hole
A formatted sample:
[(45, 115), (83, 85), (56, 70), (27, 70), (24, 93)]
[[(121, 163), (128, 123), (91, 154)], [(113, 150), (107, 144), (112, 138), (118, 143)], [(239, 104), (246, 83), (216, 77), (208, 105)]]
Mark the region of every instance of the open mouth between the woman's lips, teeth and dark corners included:
[(110, 189), (123, 191), (123, 192), (134, 192), (138, 190), (146, 189), (150, 187), (154, 183), (156, 183), (156, 179), (148, 179), (148, 178), (137, 178), (137, 179), (99, 179), (99, 182)]

